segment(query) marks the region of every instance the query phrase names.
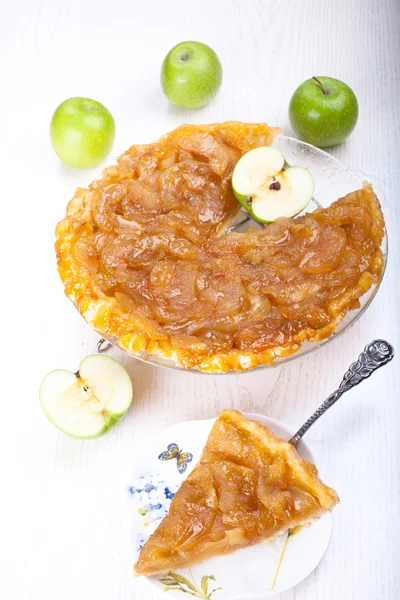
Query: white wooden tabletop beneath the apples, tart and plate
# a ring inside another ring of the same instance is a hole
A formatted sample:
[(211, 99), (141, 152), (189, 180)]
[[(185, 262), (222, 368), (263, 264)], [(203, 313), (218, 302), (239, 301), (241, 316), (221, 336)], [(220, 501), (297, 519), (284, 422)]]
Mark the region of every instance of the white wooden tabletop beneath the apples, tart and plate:
[[(0, 598), (153, 600), (131, 576), (122, 487), (141, 442), (167, 424), (224, 407), (295, 428), (374, 337), (400, 352), (399, 24), (397, 0), (19, 0), (1, 3), (0, 165), (3, 393)], [(169, 105), (159, 69), (175, 43), (209, 43), (224, 81), (198, 111)], [(291, 93), (312, 75), (343, 79), (360, 103), (357, 128), (332, 153), (371, 181), (390, 242), (381, 290), (363, 318), (325, 349), (274, 370), (196, 376), (114, 351), (135, 400), (106, 437), (78, 441), (41, 412), (38, 386), (75, 370), (98, 340), (64, 296), (54, 227), (78, 185), (99, 172), (60, 164), (48, 136), (65, 98), (93, 97), (117, 123), (115, 156), (182, 122), (267, 121), (290, 134)], [(5, 389), (4, 389), (5, 382)], [(316, 571), (281, 600), (400, 597), (400, 376), (393, 361), (347, 394), (308, 435), (322, 476), (341, 496)]]

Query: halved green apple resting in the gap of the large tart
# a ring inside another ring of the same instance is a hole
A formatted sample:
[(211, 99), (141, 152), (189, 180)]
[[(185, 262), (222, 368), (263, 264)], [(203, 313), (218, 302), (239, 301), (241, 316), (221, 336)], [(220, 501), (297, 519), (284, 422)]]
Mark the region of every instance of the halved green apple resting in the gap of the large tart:
[(294, 217), (310, 202), (314, 179), (303, 167), (285, 168), (285, 158), (272, 146), (246, 152), (232, 174), (233, 193), (261, 223)]

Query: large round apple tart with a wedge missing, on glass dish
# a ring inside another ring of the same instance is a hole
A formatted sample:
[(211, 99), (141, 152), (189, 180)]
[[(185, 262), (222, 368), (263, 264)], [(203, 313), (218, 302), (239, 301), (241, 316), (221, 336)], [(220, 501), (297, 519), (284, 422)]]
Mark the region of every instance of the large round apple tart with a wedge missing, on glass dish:
[(131, 354), (207, 372), (251, 369), (328, 337), (379, 281), (384, 221), (370, 185), (329, 208), (226, 233), (231, 174), (279, 129), (183, 125), (132, 146), (78, 189), (57, 226), (68, 297)]

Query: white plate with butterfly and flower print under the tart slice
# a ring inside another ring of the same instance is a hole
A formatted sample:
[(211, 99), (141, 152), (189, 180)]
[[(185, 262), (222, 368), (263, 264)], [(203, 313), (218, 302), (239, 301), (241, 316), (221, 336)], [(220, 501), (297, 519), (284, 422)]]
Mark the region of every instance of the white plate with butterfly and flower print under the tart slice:
[[(293, 434), (282, 423), (268, 417), (256, 414), (246, 416), (267, 425), (284, 439), (289, 439)], [(214, 420), (189, 421), (168, 427), (157, 433), (148, 447), (143, 449), (126, 489), (135, 549), (133, 562), (149, 535), (167, 514), (172, 495), (199, 459)], [(184, 474), (179, 473), (176, 459), (158, 459), (171, 443), (177, 444), (182, 452), (193, 455)], [(299, 444), (298, 451), (301, 456), (315, 463), (311, 450), (304, 442)], [(178, 569), (176, 573), (184, 577), (187, 583), (181, 580), (182, 589), (170, 589), (168, 597), (184, 600), (185, 594), (188, 600), (193, 596), (203, 600), (209, 600), (210, 597), (212, 600), (234, 600), (264, 598), (283, 592), (303, 581), (315, 569), (328, 548), (331, 533), (332, 516), (328, 514), (289, 538), (285, 534), (271, 542), (206, 560), (190, 570)], [(206, 581), (203, 579), (206, 576), (212, 578)], [(158, 578), (148, 577), (145, 580), (148, 586), (163, 594), (166, 586)], [(204, 590), (201, 588), (202, 580)], [(216, 591), (211, 596), (213, 590)]]

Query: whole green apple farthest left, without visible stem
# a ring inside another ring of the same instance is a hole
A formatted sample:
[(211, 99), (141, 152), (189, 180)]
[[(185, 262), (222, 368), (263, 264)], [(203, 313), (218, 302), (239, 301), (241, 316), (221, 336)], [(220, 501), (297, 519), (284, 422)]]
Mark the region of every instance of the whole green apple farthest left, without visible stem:
[(50, 139), (57, 156), (70, 167), (96, 167), (114, 143), (110, 111), (90, 98), (70, 98), (56, 109)]

